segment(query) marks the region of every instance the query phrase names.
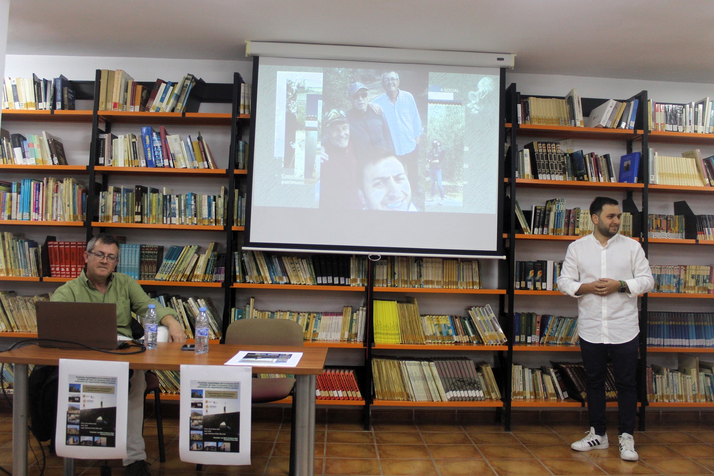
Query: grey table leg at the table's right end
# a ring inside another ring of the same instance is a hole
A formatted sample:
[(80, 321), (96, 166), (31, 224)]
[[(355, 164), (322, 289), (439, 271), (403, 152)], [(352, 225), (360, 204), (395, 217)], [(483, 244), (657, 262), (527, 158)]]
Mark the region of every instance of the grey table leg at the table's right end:
[(315, 375), (296, 375), (295, 476), (313, 476), (315, 470)]

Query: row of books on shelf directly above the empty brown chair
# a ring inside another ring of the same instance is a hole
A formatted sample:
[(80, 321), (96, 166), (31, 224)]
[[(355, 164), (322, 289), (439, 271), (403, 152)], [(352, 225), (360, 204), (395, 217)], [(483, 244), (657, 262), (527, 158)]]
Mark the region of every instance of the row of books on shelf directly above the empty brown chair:
[(307, 342), (363, 342), (367, 308), (352, 310), (344, 306), (341, 313), (295, 310), (256, 310), (251, 298), (243, 308), (231, 308), (231, 322), (238, 319), (286, 319), (303, 328)]

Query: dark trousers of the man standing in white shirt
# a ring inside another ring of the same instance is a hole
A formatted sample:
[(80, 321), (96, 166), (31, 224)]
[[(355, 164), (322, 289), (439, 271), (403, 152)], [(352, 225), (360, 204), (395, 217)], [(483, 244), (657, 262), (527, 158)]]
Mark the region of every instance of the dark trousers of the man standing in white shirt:
[(607, 375), (608, 353), (613, 361), (615, 386), (618, 389), (618, 409), (620, 427), (618, 433), (633, 434), (637, 413), (637, 385), (635, 374), (639, 335), (623, 344), (593, 344), (580, 339), (580, 353), (583, 355), (585, 376), (588, 379), (588, 416), (595, 434), (605, 435), (605, 376)]

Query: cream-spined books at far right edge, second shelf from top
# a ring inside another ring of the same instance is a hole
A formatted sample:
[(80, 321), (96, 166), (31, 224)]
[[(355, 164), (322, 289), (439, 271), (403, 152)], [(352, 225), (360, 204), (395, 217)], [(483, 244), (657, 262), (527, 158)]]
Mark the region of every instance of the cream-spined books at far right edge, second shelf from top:
[(661, 156), (650, 148), (650, 183), (655, 185), (714, 186), (714, 156), (702, 158), (701, 151), (683, 152), (681, 157)]

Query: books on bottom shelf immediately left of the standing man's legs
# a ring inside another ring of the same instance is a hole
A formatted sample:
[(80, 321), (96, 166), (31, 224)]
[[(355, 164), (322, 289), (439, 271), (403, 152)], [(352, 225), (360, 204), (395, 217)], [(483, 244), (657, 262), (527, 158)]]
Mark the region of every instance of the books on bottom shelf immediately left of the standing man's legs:
[(558, 369), (528, 368), (516, 363), (511, 367), (512, 400), (565, 400), (568, 390)]

